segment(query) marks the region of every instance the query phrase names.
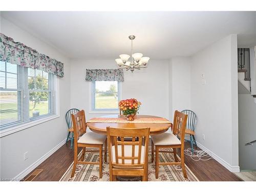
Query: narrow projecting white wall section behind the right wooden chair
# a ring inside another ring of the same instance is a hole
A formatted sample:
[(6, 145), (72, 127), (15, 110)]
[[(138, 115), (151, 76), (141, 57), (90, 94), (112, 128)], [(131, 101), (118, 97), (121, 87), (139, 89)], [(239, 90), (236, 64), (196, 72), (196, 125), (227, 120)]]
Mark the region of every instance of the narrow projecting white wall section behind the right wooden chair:
[(171, 70), (169, 83), (172, 84), (170, 96), (170, 119), (173, 119), (175, 110), (190, 110), (190, 66), (189, 57), (173, 57), (170, 60)]

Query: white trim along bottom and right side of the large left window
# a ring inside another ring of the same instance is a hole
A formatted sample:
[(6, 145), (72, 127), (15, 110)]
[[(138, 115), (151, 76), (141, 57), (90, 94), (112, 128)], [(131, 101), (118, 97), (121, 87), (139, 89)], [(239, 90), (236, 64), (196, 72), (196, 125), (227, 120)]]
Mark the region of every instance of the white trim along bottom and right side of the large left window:
[(24, 124), (16, 125), (16, 126), (13, 126), (13, 127), (9, 127), (7, 129), (4, 129), (4, 130), (0, 130), (0, 138), (60, 117), (60, 115), (59, 115), (59, 78), (56, 77), (54, 79), (55, 79), (54, 83), (56, 85), (56, 87), (54, 89), (55, 90), (54, 91), (54, 95), (55, 95), (54, 98), (55, 98), (55, 103), (56, 103), (55, 104), (56, 114), (51, 115), (49, 117), (40, 118), (38, 120), (34, 120), (34, 121), (31, 121), (31, 122), (28, 122), (28, 123), (24, 123)]

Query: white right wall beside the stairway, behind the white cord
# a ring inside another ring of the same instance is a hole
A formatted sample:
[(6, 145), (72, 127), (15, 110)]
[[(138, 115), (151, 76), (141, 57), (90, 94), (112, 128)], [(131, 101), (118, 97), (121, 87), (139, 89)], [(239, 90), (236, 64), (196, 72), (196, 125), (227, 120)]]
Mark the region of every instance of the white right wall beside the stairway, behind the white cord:
[(215, 42), (191, 56), (191, 61), (191, 109), (198, 116), (197, 141), (226, 168), (236, 172), (239, 170), (237, 35)]

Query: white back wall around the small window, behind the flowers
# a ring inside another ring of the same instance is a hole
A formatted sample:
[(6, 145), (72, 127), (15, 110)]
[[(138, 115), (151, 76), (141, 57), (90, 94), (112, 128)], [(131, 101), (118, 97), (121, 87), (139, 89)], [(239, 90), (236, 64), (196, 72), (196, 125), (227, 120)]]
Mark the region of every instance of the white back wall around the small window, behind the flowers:
[[(115, 59), (71, 60), (71, 107), (84, 109), (87, 119), (105, 114), (90, 114), (91, 82), (85, 81), (86, 69), (116, 69)], [(168, 118), (168, 60), (150, 60), (148, 68), (134, 73), (124, 70), (122, 98), (142, 102), (139, 114)]]

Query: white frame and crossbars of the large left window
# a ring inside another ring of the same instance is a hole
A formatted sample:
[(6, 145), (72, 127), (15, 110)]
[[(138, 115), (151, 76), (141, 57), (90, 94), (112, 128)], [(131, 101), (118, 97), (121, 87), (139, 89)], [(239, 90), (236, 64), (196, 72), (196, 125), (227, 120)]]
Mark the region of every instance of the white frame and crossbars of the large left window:
[[(5, 62), (5, 65), (6, 65), (6, 62)], [(21, 66), (17, 65), (17, 89), (12, 89), (12, 90), (17, 91), (17, 95), (18, 95), (18, 92), (22, 92), (21, 91), (22, 89), (19, 89), (18, 86), (20, 86), (20, 84), (28, 83), (25, 80), (23, 80), (22, 82), (19, 82), (18, 79), (20, 79), (20, 78), (18, 76), (18, 73), (19, 73), (19, 70), (22, 70), (20, 68), (21, 68)], [(7, 73), (7, 71), (5, 71), (5, 73)], [(26, 73), (26, 76), (28, 77), (28, 68), (25, 71), (25, 73)], [(50, 78), (50, 76), (48, 78)], [(25, 79), (25, 78), (22, 77), (21, 79)], [(52, 99), (52, 103), (53, 103), (53, 106), (51, 106), (51, 109), (50, 109), (51, 113), (40, 115), (39, 117), (29, 117), (27, 119), (27, 120), (29, 120), (28, 122), (26, 121), (25, 123), (20, 123), (20, 124), (14, 125), (14, 126), (12, 126), (11, 125), (12, 123), (10, 123), (10, 125), (7, 125), (6, 127), (4, 127), (4, 129), (0, 130), (0, 138), (10, 135), (10, 134), (13, 134), (18, 131), (28, 129), (29, 127), (32, 127), (37, 124), (40, 124), (40, 123), (43, 123), (43, 122), (46, 122), (46, 121), (49, 121), (49, 120), (59, 117), (59, 78), (54, 76), (54, 78), (52, 78), (52, 83), (49, 83), (49, 86), (50, 86), (50, 84), (51, 84), (51, 86), (52, 85), (54, 86), (54, 89), (53, 90), (48, 89), (48, 91), (47, 90), (44, 90), (44, 91), (46, 91), (48, 93), (52, 93), (50, 95), (51, 99)], [(6, 89), (6, 88), (1, 89), (1, 90), (10, 91), (10, 89)], [(23, 90), (23, 92), (26, 92), (26, 91), (30, 92), (30, 91), (32, 91), (32, 89), (28, 88), (27, 90)], [(34, 89), (33, 91), (36, 91), (36, 89)], [(25, 101), (23, 101), (23, 99), (20, 101), (18, 101), (18, 100), (17, 100), (17, 102), (25, 102)], [(19, 111), (19, 109), (17, 109), (17, 110)], [(13, 122), (13, 124), (14, 124), (14, 122)]]

